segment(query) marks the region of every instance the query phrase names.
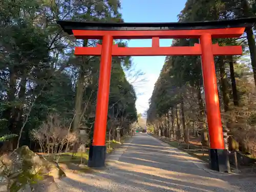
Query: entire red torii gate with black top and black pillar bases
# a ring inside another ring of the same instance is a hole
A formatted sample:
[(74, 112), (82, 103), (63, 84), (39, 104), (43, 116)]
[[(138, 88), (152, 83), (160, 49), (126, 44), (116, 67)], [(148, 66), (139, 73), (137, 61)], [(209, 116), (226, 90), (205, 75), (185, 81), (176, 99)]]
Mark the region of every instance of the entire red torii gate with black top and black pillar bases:
[[(98, 55), (100, 60), (99, 88), (93, 144), (89, 152), (89, 167), (105, 166), (105, 136), (108, 116), (112, 56), (201, 55), (210, 140), (210, 165), (226, 171), (227, 150), (224, 148), (220, 105), (215, 74), (215, 55), (241, 55), (241, 46), (212, 45), (212, 38), (240, 37), (255, 18), (195, 22), (195, 23), (93, 23), (58, 21), (62, 29), (77, 39), (102, 39), (97, 47), (76, 47), (75, 55)], [(160, 47), (160, 38), (199, 38), (192, 47)], [(113, 45), (113, 39), (152, 39), (152, 47), (127, 48)]]

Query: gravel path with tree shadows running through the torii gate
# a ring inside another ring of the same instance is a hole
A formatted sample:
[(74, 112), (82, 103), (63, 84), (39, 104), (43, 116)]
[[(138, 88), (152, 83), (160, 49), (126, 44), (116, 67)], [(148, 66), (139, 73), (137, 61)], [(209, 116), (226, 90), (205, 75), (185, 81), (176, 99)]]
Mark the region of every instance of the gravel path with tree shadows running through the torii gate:
[(140, 133), (109, 156), (108, 168), (93, 174), (68, 173), (58, 185), (63, 192), (253, 192), (255, 181), (212, 172), (200, 160)]

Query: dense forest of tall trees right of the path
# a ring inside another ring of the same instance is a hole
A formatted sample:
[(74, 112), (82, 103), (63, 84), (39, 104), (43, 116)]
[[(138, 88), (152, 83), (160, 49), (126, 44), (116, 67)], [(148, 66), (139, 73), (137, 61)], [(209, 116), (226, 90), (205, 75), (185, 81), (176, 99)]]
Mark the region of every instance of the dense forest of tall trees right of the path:
[[(187, 0), (178, 22), (251, 17), (255, 1)], [(240, 38), (213, 39), (220, 46), (242, 45), (243, 56), (215, 57), (226, 148), (256, 155), (256, 45), (254, 28)], [(174, 39), (172, 46), (193, 46), (198, 39)], [(208, 146), (205, 99), (199, 56), (167, 56), (147, 111), (155, 133), (189, 142), (201, 137)]]

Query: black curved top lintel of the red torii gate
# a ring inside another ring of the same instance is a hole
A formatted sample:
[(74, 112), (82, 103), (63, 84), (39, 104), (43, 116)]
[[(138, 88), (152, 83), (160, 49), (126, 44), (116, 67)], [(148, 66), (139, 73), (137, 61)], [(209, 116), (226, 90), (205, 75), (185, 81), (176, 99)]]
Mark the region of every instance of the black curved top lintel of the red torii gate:
[(197, 30), (252, 27), (256, 17), (237, 18), (230, 20), (212, 20), (189, 23), (108, 23), (108, 22), (77, 22), (58, 20), (57, 24), (72, 35), (72, 30), (101, 30), (101, 31), (154, 31), (154, 30)]

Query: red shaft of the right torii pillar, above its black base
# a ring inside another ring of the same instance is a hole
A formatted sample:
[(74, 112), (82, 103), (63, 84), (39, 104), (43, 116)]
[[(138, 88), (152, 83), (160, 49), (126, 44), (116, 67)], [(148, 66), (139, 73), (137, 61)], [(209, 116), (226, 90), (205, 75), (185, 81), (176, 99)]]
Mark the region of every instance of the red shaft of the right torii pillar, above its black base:
[(211, 35), (201, 35), (200, 44), (210, 148), (222, 150), (224, 139)]

